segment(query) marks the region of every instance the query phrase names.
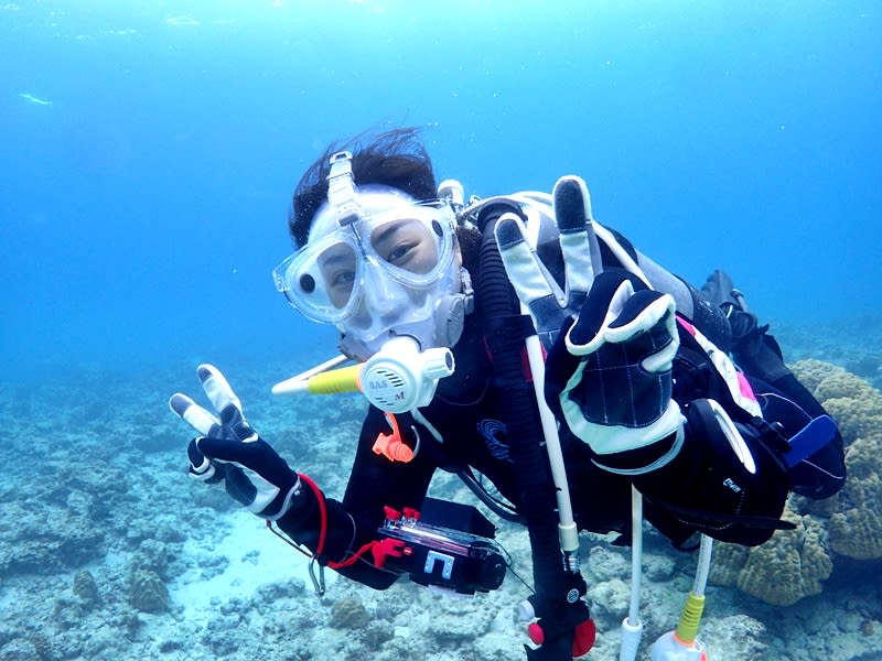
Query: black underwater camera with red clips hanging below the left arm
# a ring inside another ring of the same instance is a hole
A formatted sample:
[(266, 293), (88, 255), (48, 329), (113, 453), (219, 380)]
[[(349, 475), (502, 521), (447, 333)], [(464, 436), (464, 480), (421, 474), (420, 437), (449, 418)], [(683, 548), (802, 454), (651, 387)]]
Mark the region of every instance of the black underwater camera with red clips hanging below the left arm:
[(415, 583), (460, 594), (503, 584), (506, 553), (491, 539), (495, 527), (469, 505), (427, 498), (418, 511), (386, 508), (374, 564)]

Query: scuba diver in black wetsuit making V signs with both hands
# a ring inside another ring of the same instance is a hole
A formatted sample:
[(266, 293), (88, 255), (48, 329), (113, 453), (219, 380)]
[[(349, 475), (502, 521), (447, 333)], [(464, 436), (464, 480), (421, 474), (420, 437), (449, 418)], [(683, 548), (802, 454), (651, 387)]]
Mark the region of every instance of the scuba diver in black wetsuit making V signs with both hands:
[[(295, 252), (273, 271), (276, 286), (333, 324), (359, 365), (431, 355), (450, 376), (398, 408), (370, 404), (342, 500), (258, 435), (215, 367), (198, 368), (214, 411), (182, 393), (170, 400), (200, 434), (190, 474), (224, 483), (309, 550), (320, 574), (329, 566), (377, 589), (402, 574), (463, 593), (498, 587), (493, 524), (427, 498), (433, 474), (452, 472), (528, 529), (528, 658), (587, 652), (587, 587), (561, 554), (540, 403), (553, 413), (578, 530), (627, 534), (633, 485), (677, 548), (696, 533), (756, 545), (792, 527), (781, 520), (790, 491), (821, 499), (841, 488), (835, 423), (723, 271), (701, 289), (673, 275), (593, 220), (576, 176), (550, 196), (466, 202), (455, 182), (437, 185), (418, 129), (344, 147), (331, 145), (297, 186)], [(536, 336), (545, 402), (525, 359)]]

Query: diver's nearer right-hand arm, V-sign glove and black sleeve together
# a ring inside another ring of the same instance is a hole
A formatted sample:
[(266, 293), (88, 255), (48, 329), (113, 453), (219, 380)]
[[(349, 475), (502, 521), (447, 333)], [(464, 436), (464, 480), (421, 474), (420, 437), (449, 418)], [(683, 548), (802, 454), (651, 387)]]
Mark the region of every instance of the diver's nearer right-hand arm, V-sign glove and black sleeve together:
[(779, 520), (788, 479), (771, 449), (774, 427), (759, 418), (732, 421), (700, 393), (680, 408), (671, 397), (680, 345), (674, 299), (624, 269), (602, 271), (582, 180), (558, 181), (553, 201), (566, 291), (516, 216), (499, 219), (496, 239), (548, 351), (545, 397), (558, 421), (591, 447), (598, 466), (630, 476), (687, 533), (760, 544), (792, 527)]

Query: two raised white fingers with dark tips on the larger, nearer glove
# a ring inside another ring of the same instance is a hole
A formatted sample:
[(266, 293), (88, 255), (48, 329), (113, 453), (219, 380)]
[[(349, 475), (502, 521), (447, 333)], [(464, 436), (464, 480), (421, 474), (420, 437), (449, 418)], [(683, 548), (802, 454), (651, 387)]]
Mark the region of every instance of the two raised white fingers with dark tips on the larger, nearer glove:
[[(508, 280), (527, 306), (542, 346), (548, 350), (563, 323), (579, 314), (600, 264), (596, 238), (591, 229), (591, 198), (585, 183), (576, 176), (558, 180), (553, 191), (555, 218), (566, 268), (561, 291), (530, 246), (528, 230), (515, 214), (504, 214), (495, 236)], [(593, 257), (592, 257), (593, 256)]]

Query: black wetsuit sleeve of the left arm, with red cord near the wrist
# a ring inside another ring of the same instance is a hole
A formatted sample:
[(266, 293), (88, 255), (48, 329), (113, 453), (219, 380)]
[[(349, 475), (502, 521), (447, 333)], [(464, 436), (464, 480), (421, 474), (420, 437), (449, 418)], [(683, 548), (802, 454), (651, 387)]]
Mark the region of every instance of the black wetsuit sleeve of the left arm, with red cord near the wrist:
[[(407, 464), (374, 454), (372, 448), (377, 434), (390, 431), (383, 413), (372, 407), (362, 425), (343, 500), (325, 498), (321, 494), (320, 501), (319, 494), (304, 488), (302, 505), (278, 521), (286, 534), (313, 552), (318, 551), (324, 532), (324, 545), (319, 556), (322, 564), (345, 561), (376, 540), (377, 529), (385, 518), (385, 506), (399, 511), (405, 507), (418, 509), (421, 506), (434, 467), (420, 453)], [(389, 587), (398, 578), (397, 574), (376, 568), (369, 552), (363, 560), (336, 571), (377, 589)]]

